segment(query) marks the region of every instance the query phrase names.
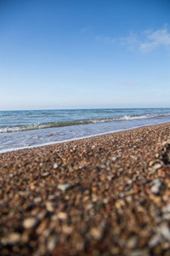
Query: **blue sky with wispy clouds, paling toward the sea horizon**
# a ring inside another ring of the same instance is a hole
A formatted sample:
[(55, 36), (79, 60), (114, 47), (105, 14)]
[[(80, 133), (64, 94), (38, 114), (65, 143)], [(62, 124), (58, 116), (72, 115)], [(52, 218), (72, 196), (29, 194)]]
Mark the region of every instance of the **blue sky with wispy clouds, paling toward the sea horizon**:
[(0, 110), (170, 107), (170, 0), (0, 0)]

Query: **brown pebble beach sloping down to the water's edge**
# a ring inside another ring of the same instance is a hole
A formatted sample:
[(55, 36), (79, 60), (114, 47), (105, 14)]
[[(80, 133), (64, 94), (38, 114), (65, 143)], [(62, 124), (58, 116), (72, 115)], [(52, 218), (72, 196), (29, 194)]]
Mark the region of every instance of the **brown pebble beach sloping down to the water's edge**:
[(170, 123), (0, 154), (1, 255), (170, 255)]

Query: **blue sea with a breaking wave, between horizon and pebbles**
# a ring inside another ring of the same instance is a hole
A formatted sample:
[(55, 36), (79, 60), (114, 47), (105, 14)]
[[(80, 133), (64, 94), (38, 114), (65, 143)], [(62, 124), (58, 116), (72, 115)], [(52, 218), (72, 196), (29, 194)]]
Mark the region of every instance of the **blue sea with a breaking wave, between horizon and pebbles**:
[(170, 122), (170, 108), (0, 111), (0, 154)]

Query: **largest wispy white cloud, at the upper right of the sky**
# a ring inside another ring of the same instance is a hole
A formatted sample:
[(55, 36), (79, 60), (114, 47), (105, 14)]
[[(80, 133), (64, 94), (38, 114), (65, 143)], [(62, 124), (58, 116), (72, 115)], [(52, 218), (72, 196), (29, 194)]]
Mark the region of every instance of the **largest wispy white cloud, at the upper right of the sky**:
[(130, 32), (130, 34), (120, 39), (120, 44), (127, 45), (128, 49), (138, 49), (141, 52), (150, 52), (159, 47), (170, 46), (170, 33), (167, 27), (156, 31), (145, 30), (139, 35)]

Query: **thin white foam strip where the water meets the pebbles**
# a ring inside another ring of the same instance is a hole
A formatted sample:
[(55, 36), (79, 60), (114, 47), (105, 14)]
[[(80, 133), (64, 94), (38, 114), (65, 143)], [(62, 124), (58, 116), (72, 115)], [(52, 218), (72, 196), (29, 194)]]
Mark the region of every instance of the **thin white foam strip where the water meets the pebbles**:
[(136, 127), (133, 127), (133, 128), (127, 128), (125, 130), (119, 130), (119, 131), (106, 131), (106, 132), (96, 134), (96, 135), (89, 135), (89, 136), (86, 136), (86, 137), (75, 137), (75, 138), (71, 138), (71, 139), (63, 140), (63, 141), (59, 141), (59, 142), (42, 143), (42, 144), (37, 144), (37, 145), (33, 145), (33, 146), (26, 146), (26, 147), (21, 147), (21, 148), (7, 148), (7, 149), (0, 150), (0, 154), (5, 154), (5, 153), (8, 153), (8, 152), (16, 152), (18, 150), (23, 150), (23, 149), (27, 149), (27, 148), (41, 148), (41, 147), (51, 146), (51, 145), (60, 144), (60, 143), (70, 143), (70, 142), (79, 141), (79, 140), (82, 140), (82, 139), (88, 139), (88, 138), (91, 138), (91, 137), (99, 137), (99, 136), (103, 136), (103, 135), (107, 135), (107, 134), (111, 134), (111, 133), (116, 133), (116, 132), (135, 130), (135, 129), (139, 129), (139, 128), (142, 128), (142, 127), (145, 127), (145, 126), (163, 125), (163, 124), (168, 124), (168, 122), (159, 123), (159, 124), (141, 125), (141, 126), (136, 126)]

